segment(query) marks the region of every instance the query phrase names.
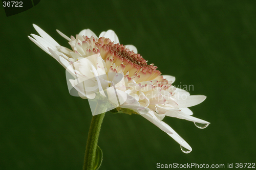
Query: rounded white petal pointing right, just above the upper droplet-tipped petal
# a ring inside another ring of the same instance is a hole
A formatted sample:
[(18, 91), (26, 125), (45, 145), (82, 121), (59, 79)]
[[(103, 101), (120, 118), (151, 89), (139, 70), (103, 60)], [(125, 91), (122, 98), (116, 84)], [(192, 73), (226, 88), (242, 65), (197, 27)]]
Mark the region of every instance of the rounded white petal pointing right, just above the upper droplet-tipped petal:
[(183, 99), (178, 99), (177, 103), (180, 108), (191, 107), (202, 103), (206, 99), (205, 95), (189, 95)]

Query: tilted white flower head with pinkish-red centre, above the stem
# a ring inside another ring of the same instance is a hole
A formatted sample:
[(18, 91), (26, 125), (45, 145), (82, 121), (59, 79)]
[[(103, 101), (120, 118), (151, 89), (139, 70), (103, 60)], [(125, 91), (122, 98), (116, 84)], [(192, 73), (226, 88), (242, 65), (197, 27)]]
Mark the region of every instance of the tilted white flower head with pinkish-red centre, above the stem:
[(203, 102), (206, 96), (189, 95), (175, 88), (172, 85), (175, 77), (161, 76), (157, 67), (147, 64), (134, 45), (119, 44), (112, 30), (102, 32), (99, 38), (89, 29), (82, 30), (76, 38), (57, 30), (69, 41), (70, 50), (33, 26), (40, 36), (31, 34), (33, 38), (28, 36), (29, 39), (70, 72), (75, 79), (69, 82), (81, 98), (108, 101), (109, 110), (116, 108), (119, 113), (140, 114), (176, 140), (184, 153), (191, 152), (188, 143), (162, 119), (177, 117), (194, 122), (199, 128), (207, 127), (208, 122), (191, 116), (193, 112), (188, 109)]

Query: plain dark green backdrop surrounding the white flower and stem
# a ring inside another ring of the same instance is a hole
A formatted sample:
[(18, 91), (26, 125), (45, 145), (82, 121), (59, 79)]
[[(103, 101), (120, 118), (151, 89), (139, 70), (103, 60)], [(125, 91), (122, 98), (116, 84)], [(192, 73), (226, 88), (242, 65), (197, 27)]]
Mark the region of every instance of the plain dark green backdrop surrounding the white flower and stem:
[[(92, 114), (71, 96), (65, 69), (28, 39), (35, 23), (69, 47), (90, 28), (112, 29), (134, 44), (174, 85), (194, 85), (207, 99), (191, 107), (210, 122), (165, 117), (193, 148), (184, 154), (139, 115), (105, 115), (100, 169), (158, 169), (156, 164), (255, 162), (255, 1), (46, 1), (1, 20), (0, 169), (81, 169)], [(181, 82), (181, 83), (180, 83)]]

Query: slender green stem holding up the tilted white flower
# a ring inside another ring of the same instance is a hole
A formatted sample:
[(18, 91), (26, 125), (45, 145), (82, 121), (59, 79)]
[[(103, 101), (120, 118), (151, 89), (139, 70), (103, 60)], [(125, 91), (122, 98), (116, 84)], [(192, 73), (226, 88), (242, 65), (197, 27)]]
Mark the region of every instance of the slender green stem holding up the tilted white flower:
[(105, 113), (93, 116), (84, 155), (83, 170), (92, 170), (94, 167), (96, 148), (99, 138), (99, 131)]

